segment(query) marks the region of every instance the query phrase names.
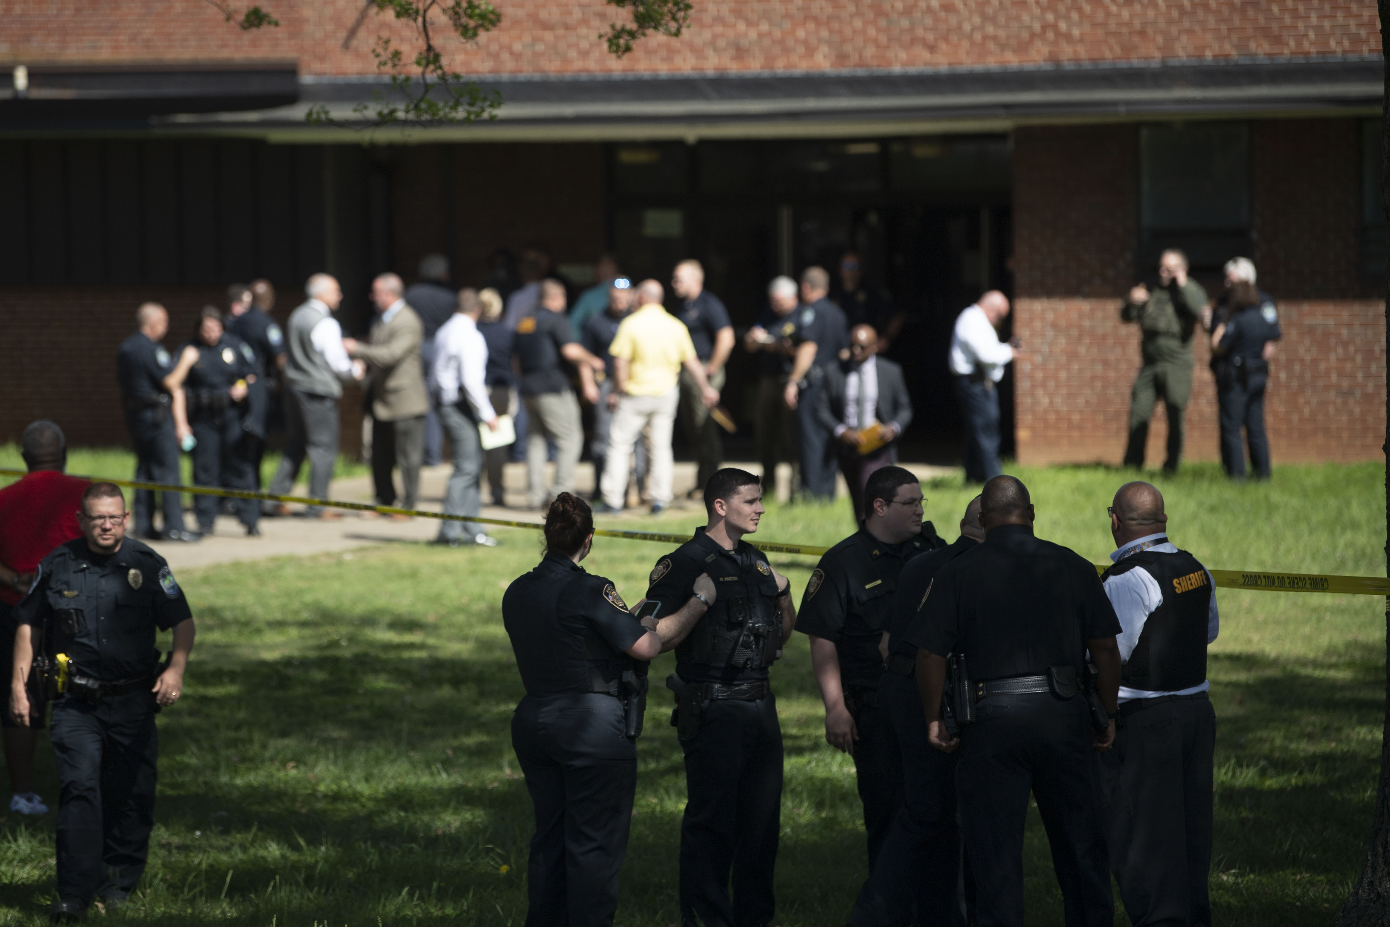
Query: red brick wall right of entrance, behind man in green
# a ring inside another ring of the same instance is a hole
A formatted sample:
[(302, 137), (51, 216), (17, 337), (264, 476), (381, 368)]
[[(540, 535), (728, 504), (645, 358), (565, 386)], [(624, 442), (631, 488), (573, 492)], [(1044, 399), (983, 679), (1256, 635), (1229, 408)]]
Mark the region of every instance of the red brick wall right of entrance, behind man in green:
[[(1383, 286), (1357, 274), (1357, 124), (1258, 122), (1251, 131), (1254, 260), (1280, 304), (1265, 420), (1279, 461), (1382, 459)], [(1119, 463), (1138, 332), (1119, 321), (1137, 281), (1136, 128), (1015, 136), (1015, 334), (1020, 461)], [(1202, 281), (1215, 290), (1216, 281)], [(1187, 457), (1219, 460), (1216, 392), (1198, 339)], [(1150, 464), (1163, 456), (1162, 404)]]

